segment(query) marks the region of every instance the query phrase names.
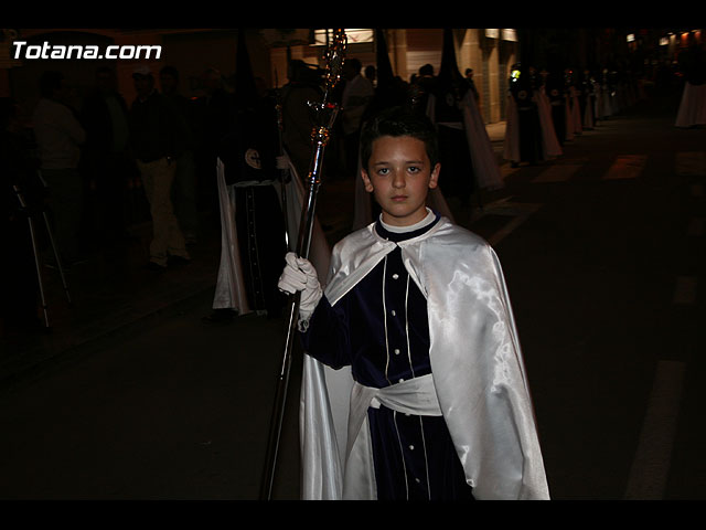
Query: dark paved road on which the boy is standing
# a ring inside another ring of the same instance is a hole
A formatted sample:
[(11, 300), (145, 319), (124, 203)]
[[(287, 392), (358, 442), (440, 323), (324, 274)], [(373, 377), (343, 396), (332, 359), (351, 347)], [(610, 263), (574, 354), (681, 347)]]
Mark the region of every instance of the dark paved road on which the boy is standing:
[[(503, 263), (556, 499), (706, 498), (706, 129), (676, 129), (675, 100), (657, 103), (556, 160), (503, 165), (482, 209), (451, 202)], [(336, 181), (320, 195), (334, 227), (350, 193)], [(217, 241), (200, 252), (202, 268), (142, 279), (130, 296), (152, 303), (120, 325), (83, 325), (30, 371), (4, 363), (0, 498), (257, 498), (284, 326), (204, 325)], [(84, 299), (114, 300), (93, 285)], [(295, 423), (290, 411), (277, 499), (298, 497)]]

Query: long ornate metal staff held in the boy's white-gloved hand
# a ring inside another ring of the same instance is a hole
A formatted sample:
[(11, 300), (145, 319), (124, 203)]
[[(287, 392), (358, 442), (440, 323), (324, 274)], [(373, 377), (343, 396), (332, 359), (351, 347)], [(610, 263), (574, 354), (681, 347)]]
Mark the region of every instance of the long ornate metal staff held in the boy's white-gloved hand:
[[(330, 102), (331, 89), (341, 78), (343, 67), (343, 56), (345, 52), (346, 38), (343, 30), (335, 30), (333, 42), (327, 50), (327, 75), (325, 91), (322, 102), (309, 102), (308, 105), (313, 112), (314, 127), (311, 132), (313, 152), (309, 165), (309, 192), (306, 208), (301, 211), (301, 222), (299, 224), (299, 239), (297, 254), (300, 257), (309, 256), (311, 244), (311, 233), (314, 223), (314, 211), (317, 204), (317, 193), (321, 184), (321, 169), (323, 167), (323, 152), (329, 142), (329, 135), (333, 127), (333, 121), (339, 113), (339, 106)], [(297, 321), (299, 319), (300, 293), (289, 297), (289, 327), (285, 341), (285, 352), (277, 380), (277, 393), (275, 396), (275, 409), (271, 416), (269, 442), (267, 445), (267, 460), (263, 478), (260, 497), (265, 500), (271, 498), (275, 468), (277, 466), (277, 454), (279, 451), (279, 439), (285, 415), (285, 404), (287, 402), (287, 389), (289, 386), (289, 372), (291, 369), (291, 351), (293, 338), (297, 332)]]

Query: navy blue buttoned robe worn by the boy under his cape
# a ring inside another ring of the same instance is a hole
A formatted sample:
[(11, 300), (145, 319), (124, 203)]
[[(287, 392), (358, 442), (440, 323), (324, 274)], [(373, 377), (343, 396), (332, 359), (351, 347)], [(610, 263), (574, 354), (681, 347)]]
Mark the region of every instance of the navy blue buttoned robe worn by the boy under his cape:
[[(386, 231), (379, 221), (375, 230), (398, 242), (420, 235), (438, 220), (408, 233)], [(322, 297), (301, 339), (304, 350), (324, 364), (351, 365), (353, 379), (365, 386), (430, 373), (427, 304), (404, 267), (399, 246), (334, 307)], [(403, 414), (384, 405), (367, 414), (379, 500), (473, 498), (442, 416)]]

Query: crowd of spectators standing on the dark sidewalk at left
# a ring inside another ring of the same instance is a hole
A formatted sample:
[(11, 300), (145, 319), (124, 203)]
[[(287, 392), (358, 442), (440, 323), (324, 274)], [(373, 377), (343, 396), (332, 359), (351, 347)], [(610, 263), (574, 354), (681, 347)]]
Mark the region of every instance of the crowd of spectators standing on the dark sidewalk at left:
[[(135, 225), (150, 222), (146, 267), (159, 272), (189, 262), (188, 247), (201, 231), (201, 188), (215, 189), (208, 182), (215, 179), (208, 178), (215, 174), (214, 138), (234, 119), (231, 97), (211, 70), (199, 98), (180, 93), (171, 66), (153, 72), (140, 65), (132, 81), (137, 96), (128, 103), (115, 70), (98, 67), (93, 89), (76, 105), (64, 75), (46, 71), (29, 126), (18, 104), (3, 98), (3, 233), (24, 242), (3, 267), (6, 328), (34, 321), (32, 254), (45, 267), (69, 272), (95, 252), (128, 243)], [(39, 214), (46, 223), (38, 224), (30, 246), (26, 219)]]

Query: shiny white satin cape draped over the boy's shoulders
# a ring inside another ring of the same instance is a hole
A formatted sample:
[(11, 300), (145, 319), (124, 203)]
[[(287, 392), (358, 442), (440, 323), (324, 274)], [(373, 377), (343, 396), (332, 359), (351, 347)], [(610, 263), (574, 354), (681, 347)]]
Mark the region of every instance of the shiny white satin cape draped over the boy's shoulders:
[[(427, 298), (439, 406), (477, 499), (548, 499), (517, 332), (500, 262), (488, 243), (441, 220), (400, 242)], [(335, 245), (325, 295), (335, 305), (395, 243), (374, 224)], [(304, 354), (300, 435), (303, 499), (375, 499), (372, 455), (349, 447), (350, 368)], [(364, 443), (361, 428), (356, 444)], [(346, 454), (351, 457), (346, 459)]]

